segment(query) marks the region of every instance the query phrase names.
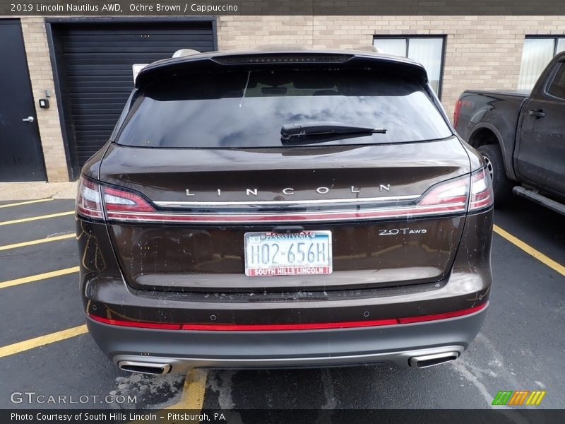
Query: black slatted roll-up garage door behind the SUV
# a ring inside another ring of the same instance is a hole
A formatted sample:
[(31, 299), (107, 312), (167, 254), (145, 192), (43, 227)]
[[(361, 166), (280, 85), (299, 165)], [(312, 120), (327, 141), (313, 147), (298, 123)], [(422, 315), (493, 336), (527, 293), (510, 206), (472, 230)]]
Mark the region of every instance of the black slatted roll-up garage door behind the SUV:
[(133, 88), (131, 66), (177, 49), (209, 52), (212, 21), (52, 23), (62, 122), (73, 174), (109, 138)]

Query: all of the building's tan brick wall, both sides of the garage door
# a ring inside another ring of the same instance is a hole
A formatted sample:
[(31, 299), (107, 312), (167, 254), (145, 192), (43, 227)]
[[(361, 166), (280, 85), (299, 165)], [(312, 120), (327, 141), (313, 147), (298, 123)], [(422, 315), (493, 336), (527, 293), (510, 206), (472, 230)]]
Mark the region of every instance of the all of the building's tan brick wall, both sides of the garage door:
[[(68, 179), (43, 18), (21, 18), (49, 181)], [(562, 16), (222, 16), (220, 49), (257, 45), (347, 48), (374, 35), (446, 35), (442, 101), (449, 116), (467, 88), (516, 88), (525, 35), (564, 35)], [(51, 108), (37, 100), (52, 93)]]

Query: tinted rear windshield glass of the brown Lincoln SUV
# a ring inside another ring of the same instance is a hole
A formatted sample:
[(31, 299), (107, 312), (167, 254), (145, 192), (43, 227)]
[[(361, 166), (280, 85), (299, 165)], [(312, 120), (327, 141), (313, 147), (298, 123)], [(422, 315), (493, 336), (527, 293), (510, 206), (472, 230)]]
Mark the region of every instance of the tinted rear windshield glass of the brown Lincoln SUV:
[(195, 73), (152, 83), (133, 102), (117, 142), (162, 148), (280, 147), (281, 126), (307, 122), (384, 128), (316, 145), (444, 139), (451, 131), (424, 87), (369, 69)]

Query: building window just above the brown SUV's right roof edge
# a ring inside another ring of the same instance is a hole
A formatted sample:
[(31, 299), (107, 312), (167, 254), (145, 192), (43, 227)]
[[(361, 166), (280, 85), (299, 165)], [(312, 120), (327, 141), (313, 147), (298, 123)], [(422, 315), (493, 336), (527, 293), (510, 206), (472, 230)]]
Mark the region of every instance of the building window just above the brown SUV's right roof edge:
[(441, 94), (441, 76), (444, 69), (445, 37), (390, 36), (374, 37), (373, 45), (380, 52), (409, 57), (424, 65), (429, 83), (437, 95)]

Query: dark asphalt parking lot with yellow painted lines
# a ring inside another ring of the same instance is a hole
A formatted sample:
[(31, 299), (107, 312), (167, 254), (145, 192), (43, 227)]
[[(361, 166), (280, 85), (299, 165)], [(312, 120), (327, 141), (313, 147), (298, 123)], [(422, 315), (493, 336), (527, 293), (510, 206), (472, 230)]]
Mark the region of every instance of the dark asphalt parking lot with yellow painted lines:
[(489, 408), (499, 390), (544, 390), (536, 408), (565, 408), (565, 217), (528, 201), (495, 213), (491, 306), (454, 363), (162, 377), (121, 372), (87, 334), (73, 201), (14, 203), (0, 202), (0, 408)]

